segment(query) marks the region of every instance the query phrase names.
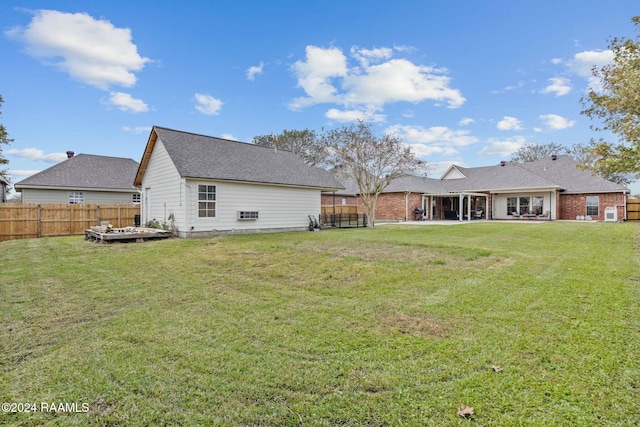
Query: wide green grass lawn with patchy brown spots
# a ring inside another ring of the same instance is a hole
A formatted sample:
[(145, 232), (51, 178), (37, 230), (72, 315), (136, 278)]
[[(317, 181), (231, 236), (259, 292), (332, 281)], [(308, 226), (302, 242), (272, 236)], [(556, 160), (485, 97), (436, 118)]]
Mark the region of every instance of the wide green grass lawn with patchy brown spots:
[(2, 242), (2, 401), (88, 412), (0, 424), (637, 425), (639, 261), (632, 223)]

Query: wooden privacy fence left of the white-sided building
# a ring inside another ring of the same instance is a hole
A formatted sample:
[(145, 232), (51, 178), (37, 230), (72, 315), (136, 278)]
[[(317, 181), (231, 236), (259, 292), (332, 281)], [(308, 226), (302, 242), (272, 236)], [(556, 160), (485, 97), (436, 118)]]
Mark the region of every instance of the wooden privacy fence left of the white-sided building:
[(71, 236), (101, 222), (113, 227), (135, 225), (140, 205), (134, 204), (0, 204), (0, 241), (34, 237)]

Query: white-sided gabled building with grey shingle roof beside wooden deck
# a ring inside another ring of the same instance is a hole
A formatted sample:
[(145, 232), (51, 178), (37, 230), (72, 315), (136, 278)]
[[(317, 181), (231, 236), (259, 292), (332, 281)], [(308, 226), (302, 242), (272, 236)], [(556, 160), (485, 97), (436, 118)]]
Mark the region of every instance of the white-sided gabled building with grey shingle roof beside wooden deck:
[(142, 220), (179, 237), (304, 230), (342, 185), (285, 150), (154, 126), (135, 177)]

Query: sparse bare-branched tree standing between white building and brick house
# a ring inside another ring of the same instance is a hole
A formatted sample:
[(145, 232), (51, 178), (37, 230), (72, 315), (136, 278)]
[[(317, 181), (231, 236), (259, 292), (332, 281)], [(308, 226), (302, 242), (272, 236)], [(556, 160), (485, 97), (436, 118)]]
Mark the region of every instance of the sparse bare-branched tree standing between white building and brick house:
[(340, 177), (352, 179), (358, 185), (369, 227), (373, 227), (378, 195), (393, 179), (424, 166), (401, 138), (377, 136), (371, 125), (362, 121), (332, 130), (323, 140)]

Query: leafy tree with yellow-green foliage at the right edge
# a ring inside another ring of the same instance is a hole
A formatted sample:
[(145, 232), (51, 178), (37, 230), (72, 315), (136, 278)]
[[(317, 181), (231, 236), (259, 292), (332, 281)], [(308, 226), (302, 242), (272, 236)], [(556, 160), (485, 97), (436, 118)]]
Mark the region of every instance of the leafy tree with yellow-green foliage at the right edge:
[[(640, 29), (640, 16), (631, 19)], [(610, 131), (618, 142), (591, 141), (597, 156), (593, 168), (601, 174), (640, 173), (640, 39), (615, 37), (609, 42), (613, 62), (592, 70), (601, 88), (591, 88), (581, 100), (582, 114), (601, 121), (596, 131)]]

